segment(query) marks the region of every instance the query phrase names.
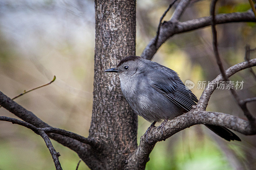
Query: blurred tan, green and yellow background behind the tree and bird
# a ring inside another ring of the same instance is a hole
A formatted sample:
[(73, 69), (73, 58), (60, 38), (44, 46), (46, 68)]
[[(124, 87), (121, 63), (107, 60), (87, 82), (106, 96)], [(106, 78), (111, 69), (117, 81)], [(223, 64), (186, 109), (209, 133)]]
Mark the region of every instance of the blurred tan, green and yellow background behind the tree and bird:
[[(137, 1), (137, 51), (140, 55), (156, 34), (159, 18), (171, 1)], [(181, 21), (209, 15), (209, 0), (192, 1)], [(221, 0), (218, 13), (247, 11), (248, 1)], [(171, 10), (165, 20), (171, 17)], [(245, 45), (256, 47), (255, 23), (229, 23), (217, 26), (220, 55), (224, 67), (244, 61)], [(0, 91), (14, 97), (57, 79), (46, 87), (25, 94), (15, 101), (53, 127), (88, 135), (92, 113), (94, 1), (92, 0), (0, 0)], [(256, 53), (251, 53), (255, 58)], [(211, 81), (219, 73), (212, 50), (209, 27), (182, 33), (169, 39), (153, 61), (180, 74), (196, 85)], [(254, 69), (255, 70), (255, 69)], [(248, 70), (231, 77), (244, 80), (238, 90), (242, 99), (256, 96), (256, 82)], [(255, 103), (249, 103), (256, 115)], [(215, 90), (209, 111), (244, 118), (228, 90)], [(15, 117), (0, 108), (0, 115)], [(150, 123), (139, 117), (138, 139)], [(146, 169), (256, 169), (256, 136), (236, 132), (242, 142), (227, 142), (203, 125), (185, 129), (165, 142), (156, 144)], [(79, 157), (54, 142), (63, 169), (75, 169)], [(0, 122), (0, 170), (55, 169), (42, 138), (31, 130)], [(79, 168), (88, 169), (82, 162)]]

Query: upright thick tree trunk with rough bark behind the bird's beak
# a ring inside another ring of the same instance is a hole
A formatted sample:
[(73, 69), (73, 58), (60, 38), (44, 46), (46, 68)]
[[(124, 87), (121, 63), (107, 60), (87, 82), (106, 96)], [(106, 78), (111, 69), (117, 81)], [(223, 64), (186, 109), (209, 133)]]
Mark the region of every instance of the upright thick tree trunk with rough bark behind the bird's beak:
[(103, 140), (108, 151), (88, 148), (80, 157), (91, 169), (122, 169), (137, 147), (137, 115), (120, 89), (115, 67), (125, 56), (135, 55), (136, 1), (95, 0), (95, 55), (92, 122), (89, 138)]

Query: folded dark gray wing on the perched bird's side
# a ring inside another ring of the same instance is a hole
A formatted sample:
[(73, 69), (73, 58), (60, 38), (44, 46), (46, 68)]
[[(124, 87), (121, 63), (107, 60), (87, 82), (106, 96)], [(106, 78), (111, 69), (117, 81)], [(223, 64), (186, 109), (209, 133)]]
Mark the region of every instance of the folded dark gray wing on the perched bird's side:
[(198, 102), (196, 96), (182, 83), (177, 73), (165, 70), (154, 73), (152, 87), (164, 94), (170, 101), (188, 112)]

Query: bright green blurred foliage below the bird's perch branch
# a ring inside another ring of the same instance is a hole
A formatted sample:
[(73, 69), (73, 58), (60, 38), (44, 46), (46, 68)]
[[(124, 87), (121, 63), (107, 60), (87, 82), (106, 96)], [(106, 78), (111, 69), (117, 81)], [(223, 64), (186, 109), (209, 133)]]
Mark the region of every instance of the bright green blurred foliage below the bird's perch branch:
[[(176, 134), (175, 134), (176, 135)], [(181, 132), (177, 134), (181, 135)], [(166, 142), (157, 143), (153, 152), (150, 154), (150, 160), (146, 169), (161, 170), (231, 170), (225, 155), (211, 140), (209, 136), (203, 140), (198, 137), (186, 136), (185, 142), (182, 139), (173, 141), (173, 138)], [(166, 143), (172, 143), (172, 148), (166, 147)]]

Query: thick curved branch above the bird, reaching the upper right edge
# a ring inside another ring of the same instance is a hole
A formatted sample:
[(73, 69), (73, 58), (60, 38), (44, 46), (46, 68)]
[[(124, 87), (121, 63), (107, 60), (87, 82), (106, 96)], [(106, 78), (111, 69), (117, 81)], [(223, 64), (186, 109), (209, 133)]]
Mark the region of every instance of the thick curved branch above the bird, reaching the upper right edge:
[[(255, 16), (251, 10), (247, 12), (218, 14), (215, 17), (216, 24), (224, 24), (230, 22), (256, 22)], [(196, 30), (199, 28), (203, 28), (205, 26), (210, 26), (211, 21), (212, 17), (208, 16), (192, 19), (185, 22), (164, 22), (160, 27), (157, 44), (154, 45), (156, 39), (155, 37), (148, 43), (147, 47), (143, 50), (141, 57), (151, 60), (153, 58), (153, 55), (155, 55), (156, 51), (158, 50), (158, 48), (160, 48), (160, 46), (172, 35)]]

